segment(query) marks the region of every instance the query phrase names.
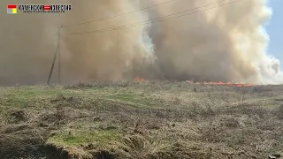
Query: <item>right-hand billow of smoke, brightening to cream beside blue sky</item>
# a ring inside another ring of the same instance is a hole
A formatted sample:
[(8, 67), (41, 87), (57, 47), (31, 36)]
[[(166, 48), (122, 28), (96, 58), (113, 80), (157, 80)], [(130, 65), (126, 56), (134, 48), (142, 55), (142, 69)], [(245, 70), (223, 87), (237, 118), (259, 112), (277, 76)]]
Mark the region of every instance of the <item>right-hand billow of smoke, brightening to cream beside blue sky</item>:
[[(233, 1), (222, 4), (229, 2)], [(168, 15), (211, 3), (180, 0), (159, 7), (157, 14)], [(270, 16), (265, 0), (242, 0), (165, 21), (152, 27), (157, 62), (165, 77), (171, 79), (282, 83), (279, 60), (267, 57), (265, 52), (268, 36), (263, 27)]]

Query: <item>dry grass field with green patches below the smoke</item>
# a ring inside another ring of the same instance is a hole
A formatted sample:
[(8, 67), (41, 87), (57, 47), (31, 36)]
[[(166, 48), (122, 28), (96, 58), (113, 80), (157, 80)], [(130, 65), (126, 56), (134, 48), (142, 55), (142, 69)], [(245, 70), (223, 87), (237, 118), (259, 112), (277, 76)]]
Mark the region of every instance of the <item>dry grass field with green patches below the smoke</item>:
[(0, 88), (2, 159), (256, 159), (282, 153), (283, 86), (152, 81)]

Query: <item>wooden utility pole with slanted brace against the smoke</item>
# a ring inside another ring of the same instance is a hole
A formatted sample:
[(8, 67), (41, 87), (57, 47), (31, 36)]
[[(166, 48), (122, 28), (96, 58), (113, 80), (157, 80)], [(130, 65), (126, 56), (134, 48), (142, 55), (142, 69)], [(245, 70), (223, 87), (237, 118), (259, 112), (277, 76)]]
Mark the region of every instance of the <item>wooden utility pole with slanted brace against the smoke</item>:
[(55, 65), (55, 62), (56, 62), (56, 57), (58, 55), (58, 83), (60, 84), (60, 76), (61, 76), (61, 64), (60, 64), (60, 34), (61, 34), (61, 26), (58, 26), (58, 42), (57, 42), (57, 49), (56, 49), (56, 52), (55, 52), (55, 55), (54, 55), (54, 58), (53, 58), (53, 62), (52, 62), (52, 65), (51, 65), (51, 69), (50, 69), (50, 75), (48, 77), (48, 80), (47, 80), (47, 85), (50, 85), (50, 79), (52, 77), (52, 73), (53, 73), (53, 69), (54, 69), (54, 65)]

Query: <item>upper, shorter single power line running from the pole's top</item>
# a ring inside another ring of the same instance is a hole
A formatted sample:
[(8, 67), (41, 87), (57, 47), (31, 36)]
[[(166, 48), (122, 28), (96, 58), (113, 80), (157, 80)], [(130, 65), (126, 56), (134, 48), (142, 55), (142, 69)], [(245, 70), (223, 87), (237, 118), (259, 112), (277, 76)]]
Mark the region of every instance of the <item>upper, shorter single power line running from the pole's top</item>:
[(65, 26), (63, 26), (63, 27), (82, 26), (82, 25), (86, 25), (86, 24), (89, 24), (89, 23), (96, 23), (96, 22), (98, 22), (98, 21), (103, 21), (103, 20), (106, 20), (106, 19), (113, 19), (113, 18), (116, 18), (116, 17), (124, 16), (124, 15), (126, 15), (126, 14), (131, 14), (131, 13), (134, 13), (134, 12), (137, 12), (137, 11), (142, 11), (142, 10), (147, 10), (147, 9), (150, 9), (150, 8), (153, 8), (153, 7), (157, 7), (158, 5), (168, 4), (168, 3), (172, 2), (172, 1), (175, 1), (175, 0), (165, 1), (165, 2), (160, 3), (160, 4), (150, 5), (150, 6), (141, 8), (141, 9), (139, 9), (139, 10), (128, 11), (128, 12), (124, 12), (124, 13), (121, 13), (121, 14), (118, 14), (118, 15), (111, 16), (111, 17), (106, 17), (106, 18), (103, 18), (103, 19), (96, 19), (96, 20), (86, 21), (86, 22), (82, 22), (82, 23), (76, 23), (76, 24), (72, 24), (72, 25), (65, 25)]

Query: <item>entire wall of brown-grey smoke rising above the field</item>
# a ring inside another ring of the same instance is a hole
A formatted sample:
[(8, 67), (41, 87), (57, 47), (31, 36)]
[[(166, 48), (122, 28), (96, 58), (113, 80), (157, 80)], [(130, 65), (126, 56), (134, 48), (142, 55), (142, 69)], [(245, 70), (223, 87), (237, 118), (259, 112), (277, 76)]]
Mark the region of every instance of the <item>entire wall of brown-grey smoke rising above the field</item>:
[[(62, 0), (59, 4), (72, 4), (72, 11), (2, 13), (0, 85), (46, 82), (57, 47), (55, 26), (103, 19), (165, 1)], [(174, 0), (149, 10), (63, 28), (60, 49), (63, 82), (142, 76), (146, 79), (282, 84), (279, 60), (268, 57), (265, 52), (268, 36), (263, 27), (271, 16), (265, 0), (242, 0), (209, 11), (115, 31), (69, 34), (131, 25), (214, 2), (218, 1)], [(226, 0), (229, 2), (232, 0)], [(1, 1), (4, 11), (6, 4), (23, 4), (23, 1)], [(58, 2), (26, 0), (25, 4)], [(52, 78), (57, 78), (57, 64)]]

